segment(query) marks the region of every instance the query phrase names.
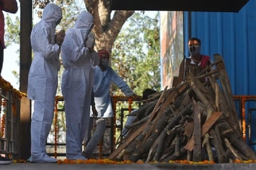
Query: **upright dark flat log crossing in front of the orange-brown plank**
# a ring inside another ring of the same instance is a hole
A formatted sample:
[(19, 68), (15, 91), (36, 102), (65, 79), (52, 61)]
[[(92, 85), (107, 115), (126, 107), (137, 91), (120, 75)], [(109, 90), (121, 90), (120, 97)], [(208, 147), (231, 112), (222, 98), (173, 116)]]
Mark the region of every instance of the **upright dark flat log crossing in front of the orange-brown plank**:
[(194, 152), (193, 152), (193, 161), (201, 161), (201, 113), (198, 108), (198, 105), (194, 98), (193, 102), (193, 114), (194, 114)]

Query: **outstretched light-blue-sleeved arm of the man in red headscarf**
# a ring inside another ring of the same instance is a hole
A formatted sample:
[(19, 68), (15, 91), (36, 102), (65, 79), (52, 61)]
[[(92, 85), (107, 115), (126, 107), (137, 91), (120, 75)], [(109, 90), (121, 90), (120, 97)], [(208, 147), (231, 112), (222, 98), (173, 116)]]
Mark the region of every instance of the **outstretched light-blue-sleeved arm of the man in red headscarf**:
[(127, 97), (134, 95), (135, 93), (130, 89), (128, 84), (111, 67), (109, 68), (111, 71), (111, 81), (113, 81), (113, 83), (115, 83)]

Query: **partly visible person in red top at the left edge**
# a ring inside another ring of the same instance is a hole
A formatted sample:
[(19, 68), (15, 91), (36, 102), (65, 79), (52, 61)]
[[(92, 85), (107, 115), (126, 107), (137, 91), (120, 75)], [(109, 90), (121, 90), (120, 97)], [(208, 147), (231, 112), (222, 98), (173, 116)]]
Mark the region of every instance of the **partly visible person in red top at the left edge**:
[[(4, 14), (3, 11), (15, 14), (18, 11), (16, 0), (0, 0), (0, 76), (4, 62)], [(1, 164), (1, 162), (0, 162)]]

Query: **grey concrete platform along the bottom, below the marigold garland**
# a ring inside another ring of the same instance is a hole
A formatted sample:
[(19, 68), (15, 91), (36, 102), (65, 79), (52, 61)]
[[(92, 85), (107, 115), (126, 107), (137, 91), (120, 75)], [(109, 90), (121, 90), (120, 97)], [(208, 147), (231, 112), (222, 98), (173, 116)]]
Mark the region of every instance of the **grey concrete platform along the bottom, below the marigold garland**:
[(33, 164), (0, 165), (0, 170), (256, 170), (256, 164)]

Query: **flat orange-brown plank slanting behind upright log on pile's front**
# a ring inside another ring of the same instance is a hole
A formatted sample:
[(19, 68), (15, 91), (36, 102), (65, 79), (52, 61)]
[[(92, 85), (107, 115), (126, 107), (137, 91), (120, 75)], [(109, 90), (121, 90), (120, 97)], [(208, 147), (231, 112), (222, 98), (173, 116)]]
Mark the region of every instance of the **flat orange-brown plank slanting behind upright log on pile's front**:
[[(207, 119), (202, 126), (201, 130), (201, 136), (204, 136), (206, 132), (212, 127), (212, 125), (220, 118), (222, 115), (222, 112), (214, 112), (209, 119)], [(189, 150), (190, 152), (194, 149), (194, 136), (188, 141), (186, 146), (184, 146), (185, 149)]]

